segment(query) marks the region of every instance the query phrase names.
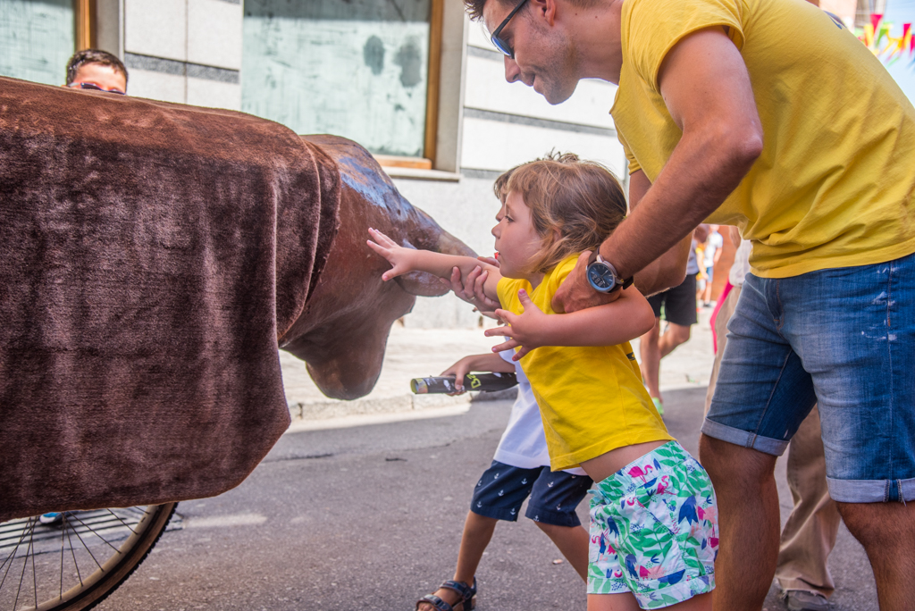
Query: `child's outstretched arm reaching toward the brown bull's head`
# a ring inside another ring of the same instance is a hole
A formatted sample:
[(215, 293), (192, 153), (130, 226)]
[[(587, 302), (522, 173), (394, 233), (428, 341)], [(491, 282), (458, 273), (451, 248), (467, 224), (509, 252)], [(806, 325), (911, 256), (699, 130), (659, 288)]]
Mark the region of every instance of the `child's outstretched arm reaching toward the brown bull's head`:
[(388, 281), (408, 272), (428, 272), (439, 278), (451, 278), (451, 271), (457, 267), (462, 276), (468, 275), (476, 268), (489, 272), (483, 291), (490, 299), (499, 299), (496, 287), (501, 280), (499, 268), (489, 263), (484, 263), (473, 257), (461, 257), (454, 254), (441, 252), (417, 251), (413, 248), (404, 248), (379, 230), (369, 230), (371, 239), (368, 244), (371, 250), (382, 255), (391, 263), (392, 269), (382, 274), (382, 280)]

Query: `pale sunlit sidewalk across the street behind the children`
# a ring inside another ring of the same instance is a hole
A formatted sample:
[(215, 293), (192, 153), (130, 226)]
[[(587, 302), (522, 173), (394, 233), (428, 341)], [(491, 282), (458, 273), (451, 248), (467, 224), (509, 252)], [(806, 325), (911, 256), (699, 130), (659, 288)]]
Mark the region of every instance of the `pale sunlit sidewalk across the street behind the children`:
[[(694, 325), (692, 338), (663, 359), (662, 391), (708, 385), (714, 356), (708, 324), (711, 313), (711, 309), (700, 309), (699, 324)], [(280, 350), (286, 402), (293, 417), (292, 429), (330, 428), (338, 426), (341, 419), (367, 424), (467, 411), (470, 401), (485, 396), (478, 397), (479, 393), (475, 392), (459, 397), (414, 395), (410, 391), (410, 380), (438, 375), (458, 359), (489, 352), (498, 343), (499, 338), (484, 336), (482, 328), (418, 329), (394, 324), (378, 383), (371, 393), (354, 401), (324, 396), (308, 376), (305, 363)], [(632, 348), (638, 356), (638, 340), (632, 342)]]

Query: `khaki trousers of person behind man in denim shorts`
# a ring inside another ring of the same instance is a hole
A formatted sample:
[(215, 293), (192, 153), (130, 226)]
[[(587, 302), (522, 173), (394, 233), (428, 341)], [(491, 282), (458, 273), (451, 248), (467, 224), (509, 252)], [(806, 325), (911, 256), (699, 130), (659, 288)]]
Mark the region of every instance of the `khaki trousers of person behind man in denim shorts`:
[[(708, 413), (712, 402), (721, 356), (727, 344), (727, 321), (734, 314), (739, 295), (739, 286), (731, 289), (715, 320), (718, 352), (705, 395), (705, 413)], [(826, 559), (835, 546), (835, 535), (842, 518), (826, 486), (826, 459), (823, 456), (820, 413), (816, 407), (801, 423), (788, 445), (788, 487), (791, 488), (794, 509), (791, 509), (781, 532), (775, 578), (782, 590), (807, 590), (829, 596), (835, 584)]]

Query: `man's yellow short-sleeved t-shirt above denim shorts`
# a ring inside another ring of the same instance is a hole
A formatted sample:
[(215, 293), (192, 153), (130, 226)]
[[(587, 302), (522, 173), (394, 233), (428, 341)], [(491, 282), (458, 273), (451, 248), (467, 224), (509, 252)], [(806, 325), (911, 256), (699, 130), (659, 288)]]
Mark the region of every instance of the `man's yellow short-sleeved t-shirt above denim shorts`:
[(664, 56), (715, 26), (729, 28), (747, 64), (763, 151), (708, 222), (753, 241), (753, 273), (915, 252), (915, 108), (854, 34), (800, 0), (626, 0), (610, 113), (630, 172), (653, 182), (682, 135), (658, 88)]

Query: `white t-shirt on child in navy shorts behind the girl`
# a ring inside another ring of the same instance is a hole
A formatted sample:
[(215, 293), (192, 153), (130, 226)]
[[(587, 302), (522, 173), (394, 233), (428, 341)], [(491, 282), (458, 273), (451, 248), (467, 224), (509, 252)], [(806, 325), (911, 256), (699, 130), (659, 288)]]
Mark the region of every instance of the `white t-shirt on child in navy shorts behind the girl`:
[[(499, 353), (502, 359), (511, 363), (514, 350)], [(506, 465), (522, 469), (533, 469), (538, 466), (550, 466), (550, 454), (546, 450), (544, 422), (540, 419), (540, 408), (533, 398), (531, 382), (521, 368), (521, 363), (512, 363), (518, 376), (518, 398), (511, 406), (508, 426), (502, 433), (499, 447), (496, 448), (495, 460)], [(587, 475), (581, 468), (567, 469), (567, 473), (576, 476)]]

